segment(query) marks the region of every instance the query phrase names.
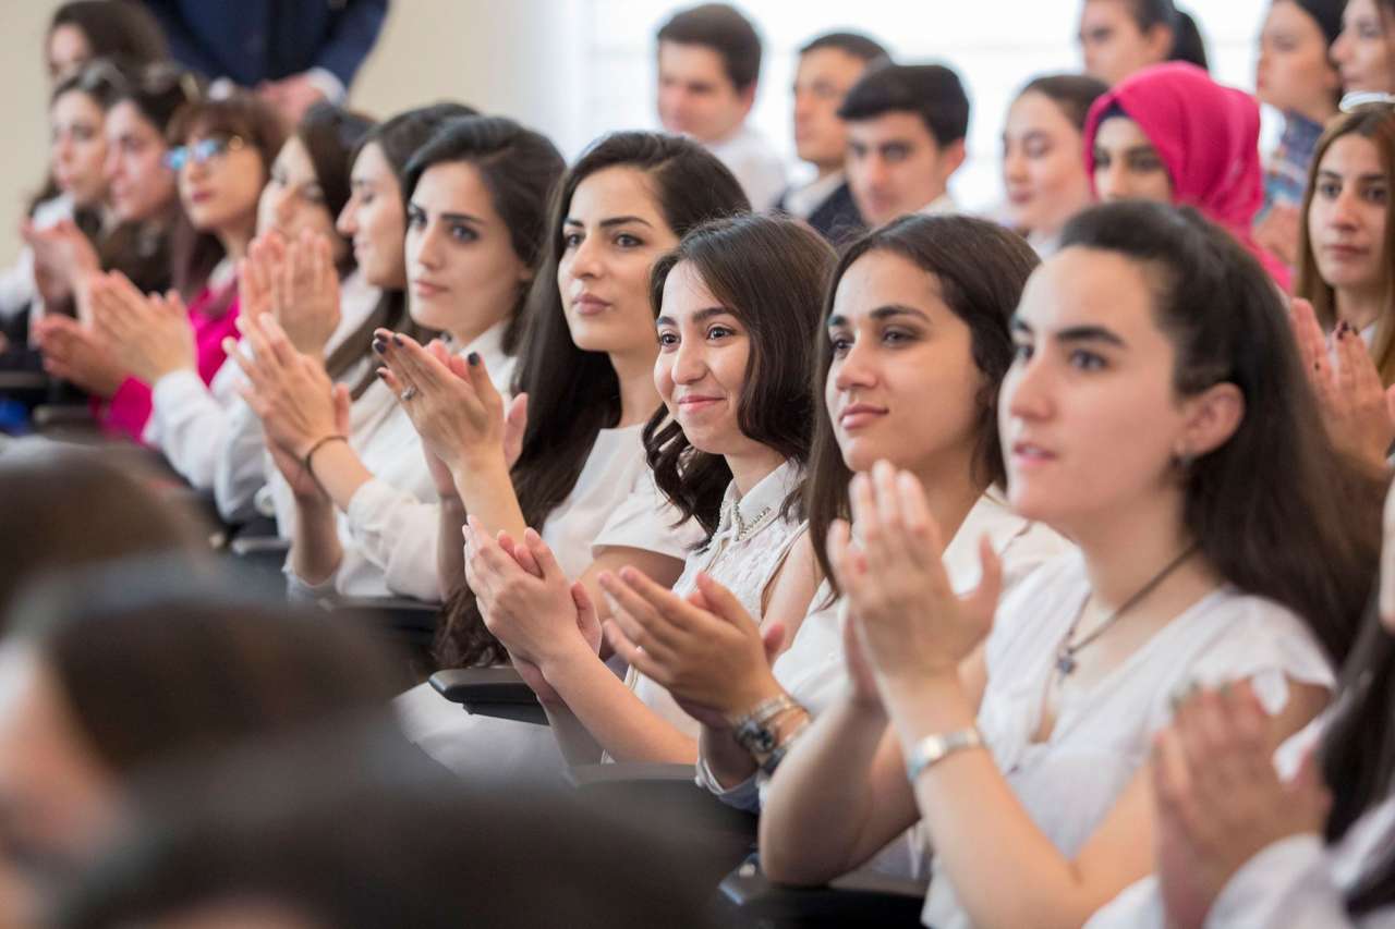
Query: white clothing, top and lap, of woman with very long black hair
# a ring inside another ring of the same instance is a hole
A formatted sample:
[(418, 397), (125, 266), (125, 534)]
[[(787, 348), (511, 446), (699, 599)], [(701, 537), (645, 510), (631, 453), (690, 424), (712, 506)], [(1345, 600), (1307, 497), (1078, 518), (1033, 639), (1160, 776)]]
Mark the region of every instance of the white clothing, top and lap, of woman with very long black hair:
[[(702, 541), (695, 520), (658, 492), (644, 463), (643, 425), (601, 430), (572, 492), (543, 524), (543, 541), (572, 579), (608, 548), (638, 548), (682, 561)], [(402, 728), (421, 750), (462, 777), (565, 767), (545, 725), (472, 716), (430, 683), (395, 702)]]

